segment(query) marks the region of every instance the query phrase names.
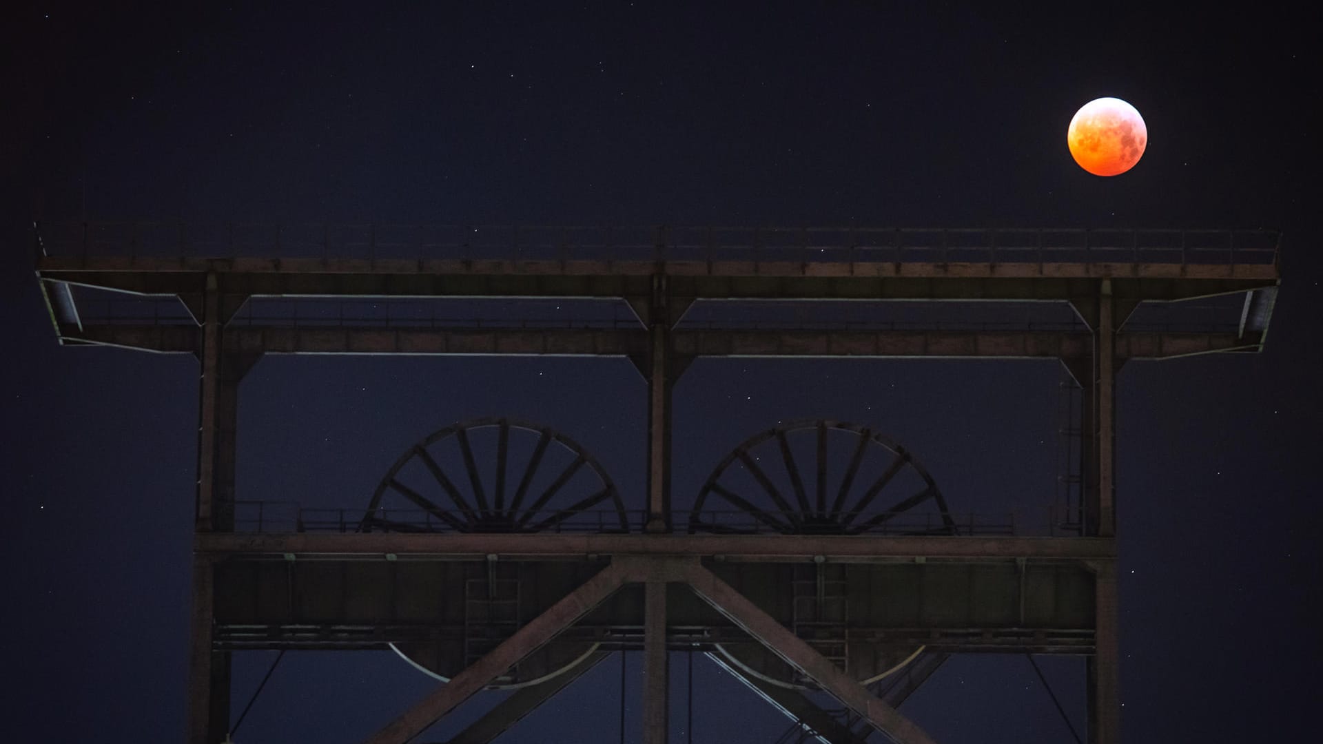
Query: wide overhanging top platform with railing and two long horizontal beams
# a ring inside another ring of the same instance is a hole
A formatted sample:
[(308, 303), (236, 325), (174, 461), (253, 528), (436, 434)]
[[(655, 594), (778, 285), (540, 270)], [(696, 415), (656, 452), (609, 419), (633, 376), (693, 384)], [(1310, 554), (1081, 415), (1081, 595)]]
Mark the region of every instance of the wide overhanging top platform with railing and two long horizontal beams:
[[(153, 351), (196, 348), (187, 328), (212, 282), (225, 318), (243, 326), (237, 336), (254, 336), (249, 348), (286, 353), (631, 353), (643, 343), (638, 318), (549, 322), (533, 304), (492, 316), (480, 301), (624, 299), (643, 316), (662, 295), (681, 312), (706, 307), (676, 324), (681, 353), (1061, 356), (1088, 335), (1081, 319), (1007, 320), (988, 302), (1078, 310), (1109, 293), (1121, 352), (1163, 357), (1259, 349), (1281, 278), (1270, 230), (77, 222), (40, 225), (34, 246), (64, 343)], [(327, 301), (337, 310), (308, 310)], [(464, 318), (419, 311), (456, 301)], [(946, 301), (946, 310), (807, 322), (749, 301)], [(1205, 303), (1193, 320), (1132, 316), (1191, 301)], [(404, 311), (392, 316), (392, 302)], [(365, 303), (386, 303), (385, 316), (361, 312)], [(344, 338), (328, 342), (328, 327)], [(488, 340), (464, 346), (478, 331)], [(787, 339), (796, 331), (822, 343)]]

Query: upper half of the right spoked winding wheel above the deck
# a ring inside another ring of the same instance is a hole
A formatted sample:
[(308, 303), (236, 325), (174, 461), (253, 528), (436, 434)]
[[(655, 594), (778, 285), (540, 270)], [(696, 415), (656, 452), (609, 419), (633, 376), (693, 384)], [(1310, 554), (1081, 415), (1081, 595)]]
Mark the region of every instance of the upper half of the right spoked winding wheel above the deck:
[(689, 532), (954, 535), (927, 470), (859, 424), (796, 421), (741, 443), (717, 465)]

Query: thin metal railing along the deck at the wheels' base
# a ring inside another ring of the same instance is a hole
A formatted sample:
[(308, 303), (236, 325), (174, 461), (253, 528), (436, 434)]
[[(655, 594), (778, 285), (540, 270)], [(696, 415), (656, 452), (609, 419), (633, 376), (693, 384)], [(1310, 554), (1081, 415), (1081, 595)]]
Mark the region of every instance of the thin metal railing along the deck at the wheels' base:
[[(648, 519), (646, 510), (627, 510), (630, 531), (642, 531)], [(783, 523), (796, 522), (802, 515), (777, 511), (762, 512)], [(525, 524), (537, 524), (545, 518), (564, 515), (558, 510), (544, 510), (520, 518)], [(869, 522), (877, 515), (868, 515), (859, 522)], [(770, 527), (765, 520), (747, 511), (701, 510), (676, 511), (672, 523), (679, 532), (695, 531), (724, 535), (777, 535), (783, 534)], [(867, 526), (860, 531), (844, 530), (833, 532), (830, 526), (808, 526), (800, 534), (859, 534), (869, 536), (902, 535), (962, 535), (962, 536), (1078, 536), (1082, 514), (1077, 507), (1061, 504), (1043, 507), (1023, 507), (1002, 512), (898, 512), (888, 519)], [(237, 532), (521, 532), (516, 524), (492, 523), (458, 528), (452, 522), (421, 508), (380, 507), (369, 514), (364, 507), (311, 507), (304, 508), (296, 502), (241, 500), (234, 504), (234, 530)], [(582, 510), (556, 522), (545, 530), (550, 534), (620, 534), (620, 512), (617, 510)]]

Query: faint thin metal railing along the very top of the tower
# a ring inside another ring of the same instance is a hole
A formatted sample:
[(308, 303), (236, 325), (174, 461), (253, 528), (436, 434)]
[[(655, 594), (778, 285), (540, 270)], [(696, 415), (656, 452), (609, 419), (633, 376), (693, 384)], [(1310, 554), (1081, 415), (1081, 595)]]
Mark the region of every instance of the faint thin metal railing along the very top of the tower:
[(1275, 265), (1253, 229), (50, 222), (38, 256)]

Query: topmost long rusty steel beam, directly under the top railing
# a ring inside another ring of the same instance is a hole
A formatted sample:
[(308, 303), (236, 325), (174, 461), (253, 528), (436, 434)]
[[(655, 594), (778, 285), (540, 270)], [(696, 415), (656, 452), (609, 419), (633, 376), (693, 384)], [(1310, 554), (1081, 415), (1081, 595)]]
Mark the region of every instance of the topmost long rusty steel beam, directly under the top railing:
[(790, 261), (483, 261), (308, 258), (38, 259), (45, 281), (134, 294), (251, 297), (646, 297), (654, 275), (676, 298), (1068, 301), (1111, 279), (1118, 299), (1179, 301), (1277, 286), (1271, 263), (931, 263)]

